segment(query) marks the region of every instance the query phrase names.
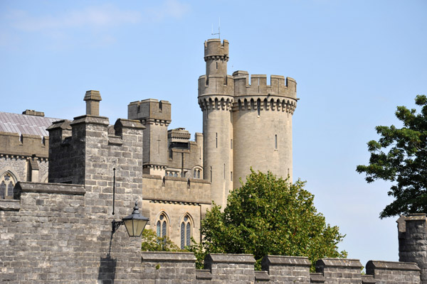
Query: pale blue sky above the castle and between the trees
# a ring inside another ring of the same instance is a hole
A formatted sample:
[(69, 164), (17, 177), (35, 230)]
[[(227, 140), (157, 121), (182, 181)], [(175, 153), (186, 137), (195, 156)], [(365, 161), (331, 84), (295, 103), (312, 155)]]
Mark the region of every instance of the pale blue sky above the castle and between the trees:
[[(367, 185), (356, 165), (396, 106), (427, 94), (427, 1), (0, 1), (0, 111), (73, 119), (85, 91), (100, 114), (127, 117), (140, 99), (172, 103), (171, 128), (201, 132), (197, 79), (204, 40), (230, 42), (228, 74), (297, 81), (294, 179), (346, 238), (349, 258), (397, 261), (386, 182)], [(269, 80), (269, 79), (268, 79)]]

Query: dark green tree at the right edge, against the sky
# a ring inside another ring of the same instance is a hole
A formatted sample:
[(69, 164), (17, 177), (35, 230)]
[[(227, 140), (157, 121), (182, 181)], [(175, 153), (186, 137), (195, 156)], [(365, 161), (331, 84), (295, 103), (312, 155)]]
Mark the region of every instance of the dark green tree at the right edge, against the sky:
[(427, 97), (418, 95), (416, 109), (397, 107), (396, 117), (403, 122), (396, 126), (376, 126), (379, 141), (369, 141), (369, 165), (358, 165), (358, 173), (366, 173), (367, 182), (394, 182), (389, 195), (395, 198), (379, 217), (427, 212)]

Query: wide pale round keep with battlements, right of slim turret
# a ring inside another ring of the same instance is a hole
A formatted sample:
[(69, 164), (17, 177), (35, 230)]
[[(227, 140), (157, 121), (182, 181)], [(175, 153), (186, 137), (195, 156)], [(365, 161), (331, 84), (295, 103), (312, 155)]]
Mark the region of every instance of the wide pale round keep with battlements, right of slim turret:
[(292, 181), (292, 114), (297, 105), (296, 82), (272, 75), (233, 73), (233, 188), (253, 170)]

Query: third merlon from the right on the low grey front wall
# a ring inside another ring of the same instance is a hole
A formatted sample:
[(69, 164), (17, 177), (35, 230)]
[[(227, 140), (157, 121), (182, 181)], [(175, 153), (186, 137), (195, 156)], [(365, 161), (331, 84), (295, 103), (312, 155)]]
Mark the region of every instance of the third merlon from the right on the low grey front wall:
[(311, 262), (306, 257), (264, 256), (263, 271), (268, 271), (271, 282), (310, 283)]

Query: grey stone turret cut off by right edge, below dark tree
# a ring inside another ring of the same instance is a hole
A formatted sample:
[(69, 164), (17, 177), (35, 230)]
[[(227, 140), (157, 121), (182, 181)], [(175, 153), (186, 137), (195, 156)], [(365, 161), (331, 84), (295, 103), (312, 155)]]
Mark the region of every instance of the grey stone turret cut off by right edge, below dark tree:
[(421, 283), (427, 284), (427, 216), (409, 214), (397, 220), (399, 261), (414, 262), (421, 268)]

